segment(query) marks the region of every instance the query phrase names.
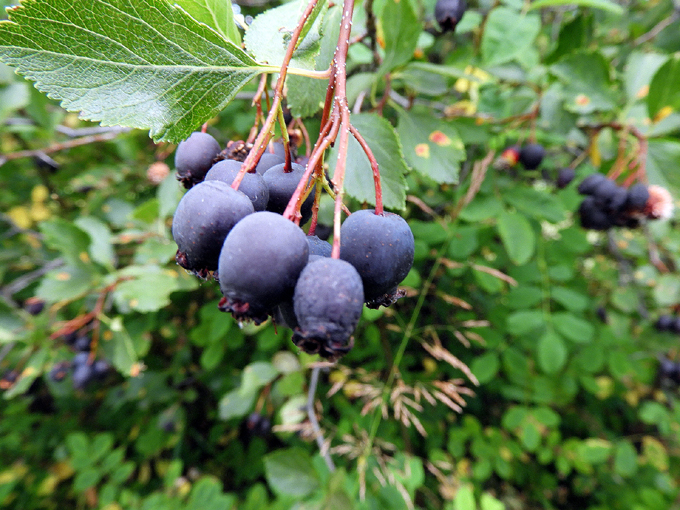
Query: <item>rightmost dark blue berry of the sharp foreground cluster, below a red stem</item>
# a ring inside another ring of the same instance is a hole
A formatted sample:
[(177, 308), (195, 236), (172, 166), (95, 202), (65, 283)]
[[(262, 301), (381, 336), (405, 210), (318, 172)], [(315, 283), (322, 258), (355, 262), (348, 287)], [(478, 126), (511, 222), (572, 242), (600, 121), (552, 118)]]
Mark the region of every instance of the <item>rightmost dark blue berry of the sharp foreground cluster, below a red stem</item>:
[(413, 233), (401, 216), (357, 211), (342, 224), (340, 241), (340, 258), (361, 276), (369, 307), (389, 306), (401, 297), (397, 285), (411, 270), (415, 251)]

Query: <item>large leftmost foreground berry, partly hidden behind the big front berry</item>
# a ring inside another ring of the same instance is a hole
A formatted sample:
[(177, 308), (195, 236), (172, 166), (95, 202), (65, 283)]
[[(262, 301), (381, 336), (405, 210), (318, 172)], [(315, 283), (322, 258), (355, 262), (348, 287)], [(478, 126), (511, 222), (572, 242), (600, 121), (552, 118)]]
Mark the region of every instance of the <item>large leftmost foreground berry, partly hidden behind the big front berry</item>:
[(250, 199), (224, 182), (207, 181), (191, 188), (172, 220), (177, 263), (199, 273), (217, 269), (224, 238), (236, 222), (253, 212)]

